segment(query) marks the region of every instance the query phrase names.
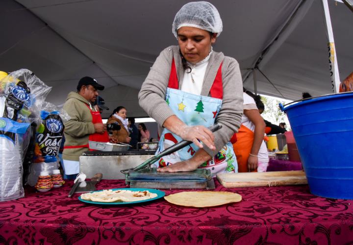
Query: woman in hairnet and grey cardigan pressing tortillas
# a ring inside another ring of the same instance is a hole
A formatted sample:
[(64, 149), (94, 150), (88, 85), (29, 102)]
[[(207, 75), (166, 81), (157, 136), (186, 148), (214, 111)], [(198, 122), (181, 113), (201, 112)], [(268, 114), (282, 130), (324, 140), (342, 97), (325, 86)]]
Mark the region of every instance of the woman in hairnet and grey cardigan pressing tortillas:
[[(163, 126), (156, 154), (182, 140), (193, 144), (155, 165), (160, 172), (237, 172), (228, 141), (240, 126), (243, 85), (238, 62), (212, 50), (222, 32), (221, 17), (209, 2), (189, 2), (176, 13), (172, 32), (178, 46), (157, 57), (139, 103)], [(212, 133), (207, 127), (216, 122), (223, 127)]]

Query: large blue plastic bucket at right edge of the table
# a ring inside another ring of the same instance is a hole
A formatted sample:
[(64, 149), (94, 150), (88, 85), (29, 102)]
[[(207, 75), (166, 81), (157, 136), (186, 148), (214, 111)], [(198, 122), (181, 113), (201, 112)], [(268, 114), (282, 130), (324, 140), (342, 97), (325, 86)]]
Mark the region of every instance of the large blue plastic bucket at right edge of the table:
[(288, 116), (310, 192), (353, 199), (353, 93), (279, 107)]

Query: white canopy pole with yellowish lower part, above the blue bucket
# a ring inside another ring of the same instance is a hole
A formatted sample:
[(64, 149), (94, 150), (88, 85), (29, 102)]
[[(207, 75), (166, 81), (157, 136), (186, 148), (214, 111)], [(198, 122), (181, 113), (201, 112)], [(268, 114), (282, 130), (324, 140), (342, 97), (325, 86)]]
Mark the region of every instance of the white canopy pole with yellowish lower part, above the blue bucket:
[(324, 9), (325, 14), (325, 23), (326, 23), (326, 31), (328, 36), (328, 64), (330, 70), (330, 78), (331, 78), (331, 89), (333, 93), (339, 92), (339, 85), (340, 85), (340, 78), (338, 73), (338, 65), (337, 65), (337, 56), (336, 56), (336, 49), (333, 40), (333, 32), (332, 32), (332, 25), (331, 25), (331, 18), (328, 9), (328, 1), (322, 0), (321, 1)]

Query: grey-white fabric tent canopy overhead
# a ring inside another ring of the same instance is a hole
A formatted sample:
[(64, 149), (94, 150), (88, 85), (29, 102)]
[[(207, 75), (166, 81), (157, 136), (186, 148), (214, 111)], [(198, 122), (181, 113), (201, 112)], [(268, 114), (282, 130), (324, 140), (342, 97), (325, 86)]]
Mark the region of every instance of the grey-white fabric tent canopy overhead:
[[(146, 116), (137, 94), (159, 52), (176, 45), (171, 26), (185, 0), (1, 0), (0, 71), (26, 68), (52, 86), (61, 104), (88, 75), (106, 86), (111, 112)], [(320, 0), (210, 0), (224, 31), (214, 50), (240, 63), (244, 86), (299, 99), (331, 93)], [(353, 72), (353, 14), (329, 0), (340, 77)], [(269, 81), (270, 80), (270, 81)], [(104, 112), (107, 117), (109, 112)]]

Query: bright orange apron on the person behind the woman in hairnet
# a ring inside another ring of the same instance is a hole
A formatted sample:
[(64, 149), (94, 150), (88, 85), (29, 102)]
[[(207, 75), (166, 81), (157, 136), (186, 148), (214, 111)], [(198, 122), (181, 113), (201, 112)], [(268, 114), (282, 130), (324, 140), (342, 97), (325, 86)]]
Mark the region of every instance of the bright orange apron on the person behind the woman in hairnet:
[[(233, 144), (233, 148), (238, 162), (238, 172), (248, 172), (248, 157), (251, 153), (254, 133), (241, 124), (236, 138), (237, 142)], [(257, 170), (252, 172), (257, 172)]]

